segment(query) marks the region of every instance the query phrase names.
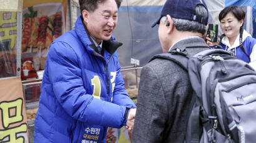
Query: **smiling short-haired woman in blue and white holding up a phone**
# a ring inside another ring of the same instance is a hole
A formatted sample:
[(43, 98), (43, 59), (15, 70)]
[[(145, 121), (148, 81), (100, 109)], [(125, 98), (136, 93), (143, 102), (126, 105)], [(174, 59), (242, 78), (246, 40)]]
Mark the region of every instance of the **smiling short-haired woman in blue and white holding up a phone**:
[(222, 49), (233, 52), (237, 58), (256, 69), (256, 39), (242, 28), (244, 19), (245, 12), (241, 7), (225, 7), (219, 14), (220, 28), (224, 34), (217, 42), (211, 42), (207, 35), (206, 42), (209, 46), (219, 44)]

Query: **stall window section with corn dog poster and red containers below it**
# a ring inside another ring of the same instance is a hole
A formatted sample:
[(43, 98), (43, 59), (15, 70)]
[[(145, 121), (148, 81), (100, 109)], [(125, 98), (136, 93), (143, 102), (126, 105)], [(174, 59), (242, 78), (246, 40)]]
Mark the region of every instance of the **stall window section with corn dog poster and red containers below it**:
[(66, 32), (67, 1), (23, 1), (21, 80), (39, 78), (52, 42)]

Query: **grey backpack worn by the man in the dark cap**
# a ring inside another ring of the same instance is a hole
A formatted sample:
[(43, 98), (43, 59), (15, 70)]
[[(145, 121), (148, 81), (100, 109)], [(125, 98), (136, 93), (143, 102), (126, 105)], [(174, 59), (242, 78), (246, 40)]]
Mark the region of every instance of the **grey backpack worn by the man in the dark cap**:
[(176, 48), (152, 58), (172, 60), (189, 73), (194, 90), (185, 142), (255, 142), (256, 72), (222, 49), (189, 57)]

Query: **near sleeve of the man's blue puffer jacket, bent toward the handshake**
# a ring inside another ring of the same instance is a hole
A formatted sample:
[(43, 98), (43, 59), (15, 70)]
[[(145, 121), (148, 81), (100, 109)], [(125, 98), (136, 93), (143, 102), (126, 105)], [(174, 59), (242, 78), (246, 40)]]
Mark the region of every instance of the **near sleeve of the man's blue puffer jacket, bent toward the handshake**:
[[(64, 42), (55, 42), (47, 57), (49, 78), (57, 101), (72, 118), (89, 124), (121, 127), (124, 125), (126, 98), (119, 104), (93, 98), (86, 93), (76, 52)], [(121, 86), (121, 84), (118, 84)], [(121, 90), (117, 90), (121, 94)], [(124, 94), (124, 96), (127, 96)], [(132, 101), (130, 101), (132, 102)]]

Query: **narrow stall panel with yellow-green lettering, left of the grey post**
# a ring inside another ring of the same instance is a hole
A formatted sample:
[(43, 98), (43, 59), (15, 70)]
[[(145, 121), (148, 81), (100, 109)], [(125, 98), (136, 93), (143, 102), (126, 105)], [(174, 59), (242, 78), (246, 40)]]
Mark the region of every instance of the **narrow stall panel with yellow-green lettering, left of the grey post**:
[(0, 78), (16, 76), (17, 12), (0, 11)]

